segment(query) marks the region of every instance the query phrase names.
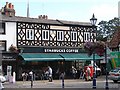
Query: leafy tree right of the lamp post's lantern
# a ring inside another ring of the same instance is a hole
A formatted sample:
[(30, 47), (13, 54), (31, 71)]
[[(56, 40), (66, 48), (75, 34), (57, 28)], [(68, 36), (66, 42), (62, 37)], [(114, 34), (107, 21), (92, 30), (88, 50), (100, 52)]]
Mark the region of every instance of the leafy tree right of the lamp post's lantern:
[[(98, 24), (97, 40), (106, 40), (112, 37), (112, 34), (120, 27), (120, 18), (114, 18), (109, 21), (101, 21)], [(105, 39), (105, 38), (106, 39)]]

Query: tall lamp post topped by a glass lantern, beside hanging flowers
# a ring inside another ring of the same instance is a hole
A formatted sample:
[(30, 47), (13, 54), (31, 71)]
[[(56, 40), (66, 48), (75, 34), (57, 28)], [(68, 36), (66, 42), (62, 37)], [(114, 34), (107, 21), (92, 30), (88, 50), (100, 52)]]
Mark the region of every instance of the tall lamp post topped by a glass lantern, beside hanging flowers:
[[(97, 19), (95, 18), (94, 14), (92, 16), (92, 18), (90, 19), (90, 22), (92, 24), (92, 29), (94, 31), (95, 28), (95, 24), (97, 22)], [(93, 72), (93, 89), (96, 89), (96, 71), (95, 71), (95, 50), (93, 51), (93, 68), (94, 68), (94, 72)]]

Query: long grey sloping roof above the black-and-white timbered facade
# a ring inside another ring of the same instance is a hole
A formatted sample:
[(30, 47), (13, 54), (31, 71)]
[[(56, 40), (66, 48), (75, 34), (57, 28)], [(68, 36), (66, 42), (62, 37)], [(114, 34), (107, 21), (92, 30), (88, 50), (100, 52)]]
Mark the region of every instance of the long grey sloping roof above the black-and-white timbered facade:
[(20, 16), (6, 16), (0, 15), (0, 21), (11, 21), (11, 22), (29, 22), (29, 23), (43, 23), (43, 24), (54, 24), (54, 25), (75, 25), (75, 26), (92, 26), (90, 22), (74, 22), (65, 20), (53, 20), (53, 19), (39, 19), (29, 18)]

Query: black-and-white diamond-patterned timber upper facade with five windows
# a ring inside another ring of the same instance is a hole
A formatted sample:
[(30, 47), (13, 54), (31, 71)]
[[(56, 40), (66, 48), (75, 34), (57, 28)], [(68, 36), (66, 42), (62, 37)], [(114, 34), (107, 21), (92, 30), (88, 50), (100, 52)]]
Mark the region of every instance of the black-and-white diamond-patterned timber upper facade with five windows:
[[(92, 27), (55, 26), (49, 24), (17, 23), (18, 46), (79, 47), (86, 41), (95, 41)], [(67, 29), (64, 29), (67, 28)]]

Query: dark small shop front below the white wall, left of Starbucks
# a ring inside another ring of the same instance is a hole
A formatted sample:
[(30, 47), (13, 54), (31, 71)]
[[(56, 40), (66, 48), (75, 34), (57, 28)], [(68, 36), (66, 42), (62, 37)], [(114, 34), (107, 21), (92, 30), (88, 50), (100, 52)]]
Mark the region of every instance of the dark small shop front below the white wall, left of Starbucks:
[(2, 52), (2, 74), (4, 76), (12, 76), (13, 72), (16, 72), (17, 64), (16, 58), (18, 57), (17, 53)]

